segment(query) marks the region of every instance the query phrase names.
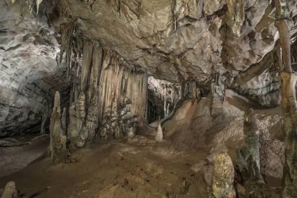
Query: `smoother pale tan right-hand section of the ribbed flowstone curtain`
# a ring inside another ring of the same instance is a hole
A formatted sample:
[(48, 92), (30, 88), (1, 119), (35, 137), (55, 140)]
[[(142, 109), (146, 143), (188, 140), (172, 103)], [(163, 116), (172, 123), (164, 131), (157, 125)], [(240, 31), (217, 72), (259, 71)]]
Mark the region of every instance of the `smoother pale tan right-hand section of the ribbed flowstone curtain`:
[[(143, 70), (129, 65), (114, 51), (104, 49), (99, 83), (99, 121), (103, 139), (121, 137), (135, 122), (142, 126), (146, 113), (147, 81)], [(115, 101), (117, 109), (114, 108)], [(110, 128), (111, 124), (114, 129)]]

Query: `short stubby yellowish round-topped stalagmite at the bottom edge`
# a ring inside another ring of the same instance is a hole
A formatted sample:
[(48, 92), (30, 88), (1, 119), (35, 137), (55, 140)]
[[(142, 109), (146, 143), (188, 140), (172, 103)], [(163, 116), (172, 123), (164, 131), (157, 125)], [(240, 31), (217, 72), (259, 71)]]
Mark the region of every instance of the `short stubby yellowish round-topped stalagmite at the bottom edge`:
[(212, 193), (215, 198), (235, 198), (236, 193), (233, 186), (234, 168), (230, 156), (220, 153), (216, 156), (213, 176)]

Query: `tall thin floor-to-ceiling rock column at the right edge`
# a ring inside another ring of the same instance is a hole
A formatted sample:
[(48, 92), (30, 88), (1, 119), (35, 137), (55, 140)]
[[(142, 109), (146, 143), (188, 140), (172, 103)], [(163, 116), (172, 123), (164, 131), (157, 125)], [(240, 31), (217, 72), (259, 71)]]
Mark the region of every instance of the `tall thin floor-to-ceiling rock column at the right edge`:
[(281, 84), (282, 110), (285, 121), (285, 168), (284, 168), (284, 188), (283, 198), (297, 197), (297, 100), (296, 82), (297, 75), (292, 72), (291, 67), (291, 47), (289, 28), (289, 6), (287, 0), (275, 0), (277, 10), (277, 20), (275, 26), (280, 35), (282, 54), (279, 55), (279, 81)]

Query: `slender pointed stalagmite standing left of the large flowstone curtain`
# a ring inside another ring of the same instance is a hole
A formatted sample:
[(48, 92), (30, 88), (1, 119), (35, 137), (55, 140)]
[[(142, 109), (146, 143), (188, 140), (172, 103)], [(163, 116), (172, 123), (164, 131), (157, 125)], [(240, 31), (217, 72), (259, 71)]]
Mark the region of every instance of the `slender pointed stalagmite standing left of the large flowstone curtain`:
[(61, 124), (60, 94), (55, 93), (54, 105), (49, 125), (49, 149), (54, 163), (65, 162), (67, 159), (66, 136)]

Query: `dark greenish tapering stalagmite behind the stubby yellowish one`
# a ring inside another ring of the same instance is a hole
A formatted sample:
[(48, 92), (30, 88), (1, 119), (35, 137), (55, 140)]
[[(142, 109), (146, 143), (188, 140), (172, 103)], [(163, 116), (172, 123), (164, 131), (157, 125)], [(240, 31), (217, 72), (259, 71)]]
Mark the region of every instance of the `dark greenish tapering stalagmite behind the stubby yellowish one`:
[(254, 178), (263, 182), (260, 173), (259, 130), (253, 109), (248, 109), (244, 117), (245, 147), (237, 150), (238, 166), (244, 182)]

